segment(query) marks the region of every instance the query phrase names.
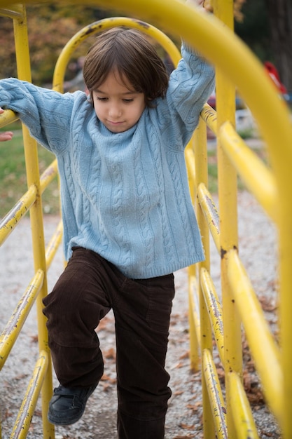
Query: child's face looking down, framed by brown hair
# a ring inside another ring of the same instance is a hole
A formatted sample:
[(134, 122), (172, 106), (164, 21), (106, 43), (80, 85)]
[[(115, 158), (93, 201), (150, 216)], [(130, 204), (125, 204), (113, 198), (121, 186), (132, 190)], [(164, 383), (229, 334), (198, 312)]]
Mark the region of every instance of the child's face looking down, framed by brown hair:
[(112, 133), (123, 133), (137, 123), (146, 107), (144, 93), (137, 93), (127, 79), (114, 72), (92, 91), (97, 117)]

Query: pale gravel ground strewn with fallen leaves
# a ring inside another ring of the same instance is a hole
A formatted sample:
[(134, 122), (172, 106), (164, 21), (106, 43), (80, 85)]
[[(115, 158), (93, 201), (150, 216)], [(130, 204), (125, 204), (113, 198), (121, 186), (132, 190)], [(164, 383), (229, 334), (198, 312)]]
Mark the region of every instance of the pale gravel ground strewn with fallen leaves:
[[(276, 297), (276, 234), (261, 208), (247, 192), (239, 194), (239, 249), (260, 302), (272, 329), (277, 323)], [(57, 219), (46, 217), (46, 241)], [(0, 323), (1, 330), (11, 316), (22, 292), (33, 275), (29, 219), (25, 218), (0, 251)], [(211, 275), (220, 292), (220, 261), (216, 250), (211, 252)], [(62, 271), (62, 252), (57, 253), (48, 272), (49, 290)], [(176, 297), (172, 313), (167, 354), (167, 370), (171, 374), (173, 395), (169, 401), (166, 439), (202, 438), (202, 398), (200, 372), (190, 371), (188, 360), (188, 297), (186, 269), (175, 273)], [(115, 439), (116, 374), (113, 316), (106, 316), (99, 327), (99, 338), (105, 360), (104, 379), (90, 397), (81, 421), (70, 427), (57, 427), (56, 439)], [(0, 373), (2, 439), (8, 439), (15, 422), (32, 367), (38, 356), (36, 312), (32, 310), (22, 334)], [(279, 439), (279, 428), (263, 403), (260, 384), (253, 371), (248, 349), (244, 351), (249, 396), (260, 438)], [(55, 381), (57, 385), (57, 381)], [(1, 437), (1, 435), (0, 435)], [(38, 405), (29, 439), (41, 438), (41, 408)], [(139, 438), (137, 438), (139, 439)]]

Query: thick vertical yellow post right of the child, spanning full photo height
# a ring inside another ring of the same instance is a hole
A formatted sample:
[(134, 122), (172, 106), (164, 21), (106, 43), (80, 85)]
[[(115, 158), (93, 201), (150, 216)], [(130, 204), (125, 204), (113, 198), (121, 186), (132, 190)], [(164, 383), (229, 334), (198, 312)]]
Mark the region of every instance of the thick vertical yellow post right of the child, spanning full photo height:
[[(233, 31), (233, 0), (214, 0), (214, 13)], [(216, 111), (217, 129), (225, 121), (235, 125), (235, 86), (230, 82), (221, 67), (216, 66)], [(238, 248), (237, 236), (237, 174), (217, 139), (218, 158), (218, 196), (220, 211), (220, 246), (221, 246), (221, 285), (224, 325), (224, 369), (242, 374), (241, 323), (232, 301), (227, 276), (227, 259), (230, 248)], [(235, 437), (235, 427), (231, 417), (230, 392), (226, 386), (226, 408), (228, 433)]]

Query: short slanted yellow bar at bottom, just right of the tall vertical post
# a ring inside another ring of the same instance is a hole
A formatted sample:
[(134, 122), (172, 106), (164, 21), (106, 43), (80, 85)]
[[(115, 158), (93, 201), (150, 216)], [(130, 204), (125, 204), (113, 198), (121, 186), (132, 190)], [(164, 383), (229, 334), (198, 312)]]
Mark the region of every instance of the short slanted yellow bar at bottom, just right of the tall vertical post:
[(235, 422), (236, 438), (259, 439), (242, 380), (235, 372), (230, 372), (227, 379), (230, 381), (231, 410)]

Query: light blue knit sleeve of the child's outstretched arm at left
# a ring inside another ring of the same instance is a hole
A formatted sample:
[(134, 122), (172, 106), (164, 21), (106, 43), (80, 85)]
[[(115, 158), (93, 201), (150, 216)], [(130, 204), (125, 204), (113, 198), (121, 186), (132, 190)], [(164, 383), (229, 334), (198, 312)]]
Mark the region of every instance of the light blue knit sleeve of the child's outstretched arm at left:
[(15, 78), (0, 81), (0, 106), (17, 113), (31, 135), (53, 152), (69, 139), (73, 95), (34, 86)]

